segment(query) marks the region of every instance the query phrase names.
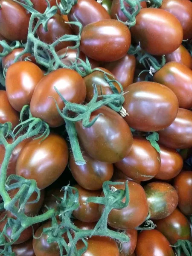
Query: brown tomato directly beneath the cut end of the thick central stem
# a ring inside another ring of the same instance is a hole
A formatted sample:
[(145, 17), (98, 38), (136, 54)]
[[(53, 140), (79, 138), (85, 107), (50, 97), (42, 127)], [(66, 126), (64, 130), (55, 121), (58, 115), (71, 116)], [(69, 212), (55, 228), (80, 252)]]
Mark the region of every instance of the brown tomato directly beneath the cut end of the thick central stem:
[(81, 166), (77, 165), (73, 155), (70, 155), (69, 167), (74, 179), (84, 189), (102, 189), (103, 183), (111, 180), (113, 176), (113, 165), (94, 160), (84, 151), (82, 151), (82, 154), (86, 163)]

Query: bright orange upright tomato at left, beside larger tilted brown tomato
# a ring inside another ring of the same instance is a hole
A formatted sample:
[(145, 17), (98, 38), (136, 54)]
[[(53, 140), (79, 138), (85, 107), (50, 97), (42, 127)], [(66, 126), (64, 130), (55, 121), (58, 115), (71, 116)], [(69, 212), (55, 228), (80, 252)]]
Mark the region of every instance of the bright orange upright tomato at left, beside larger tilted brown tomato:
[(43, 77), (43, 71), (31, 61), (18, 61), (8, 68), (6, 92), (16, 111), (30, 104), (35, 87)]

